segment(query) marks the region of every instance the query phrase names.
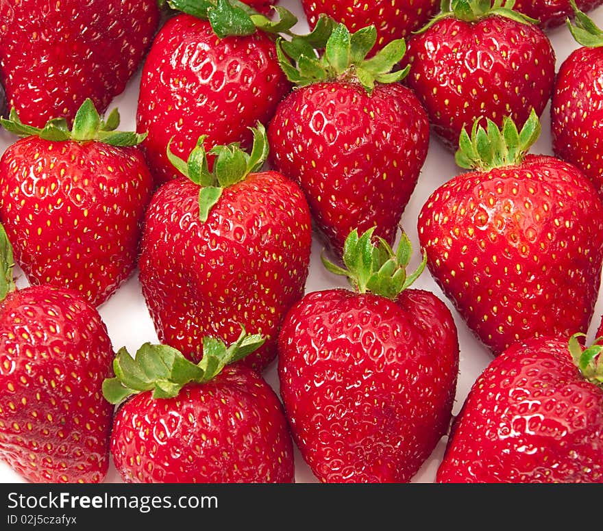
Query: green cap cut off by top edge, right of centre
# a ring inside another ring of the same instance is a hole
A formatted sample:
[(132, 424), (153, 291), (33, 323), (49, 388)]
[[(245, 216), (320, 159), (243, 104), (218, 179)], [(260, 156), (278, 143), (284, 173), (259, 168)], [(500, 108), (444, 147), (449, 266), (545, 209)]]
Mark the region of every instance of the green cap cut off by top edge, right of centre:
[(454, 16), (460, 21), (477, 22), (487, 16), (504, 16), (521, 24), (536, 24), (537, 19), (513, 10), (515, 0), (441, 0), (440, 12), (415, 33), (423, 33), (443, 18)]

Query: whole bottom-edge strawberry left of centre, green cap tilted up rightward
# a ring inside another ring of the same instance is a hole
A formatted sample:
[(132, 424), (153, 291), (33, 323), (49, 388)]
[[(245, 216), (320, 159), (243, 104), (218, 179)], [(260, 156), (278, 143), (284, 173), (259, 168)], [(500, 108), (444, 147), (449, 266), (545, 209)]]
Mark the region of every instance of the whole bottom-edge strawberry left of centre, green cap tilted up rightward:
[[(232, 365), (262, 343), (245, 330), (229, 348), (204, 338), (198, 365), (164, 345), (122, 348), (107, 400), (123, 402), (111, 433), (125, 482), (291, 483), (293, 442), (282, 404), (264, 379)], [(231, 365), (227, 365), (231, 363)]]

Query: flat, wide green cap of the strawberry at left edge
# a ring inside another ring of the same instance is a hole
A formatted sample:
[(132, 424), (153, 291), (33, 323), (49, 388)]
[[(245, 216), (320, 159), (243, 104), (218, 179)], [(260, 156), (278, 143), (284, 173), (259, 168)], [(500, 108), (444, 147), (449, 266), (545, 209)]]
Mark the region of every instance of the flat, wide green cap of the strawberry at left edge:
[(102, 120), (91, 99), (86, 99), (77, 109), (73, 126), (65, 118), (52, 118), (41, 129), (21, 122), (14, 107), (10, 110), (8, 119), (0, 118), (4, 129), (19, 136), (39, 136), (50, 142), (97, 141), (111, 146), (136, 146), (145, 140), (147, 133), (138, 134), (132, 131), (117, 131), (119, 127), (119, 110), (113, 109), (109, 116)]

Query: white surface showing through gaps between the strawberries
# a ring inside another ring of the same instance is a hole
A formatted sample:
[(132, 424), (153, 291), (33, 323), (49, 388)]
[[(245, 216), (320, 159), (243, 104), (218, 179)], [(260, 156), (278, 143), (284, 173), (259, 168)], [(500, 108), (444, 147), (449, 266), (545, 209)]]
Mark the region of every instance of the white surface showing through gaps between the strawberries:
[[(281, 0), (280, 5), (291, 10), (298, 18), (299, 23), (294, 27), (294, 31), (298, 34), (303, 34), (308, 31), (308, 25), (302, 11), (299, 0)], [(603, 28), (603, 7), (589, 14), (591, 18)], [(562, 26), (548, 32), (548, 36), (552, 41), (557, 60), (557, 70), (561, 62), (565, 60), (567, 55), (572, 50), (578, 47), (569, 34), (567, 27)], [(138, 75), (130, 80), (127, 89), (123, 94), (114, 99), (110, 108), (118, 107), (121, 114), (120, 128), (123, 131), (134, 131), (136, 128), (136, 102), (138, 98), (138, 84), (140, 82), (140, 71)], [(541, 117), (543, 132), (538, 142), (532, 146), (532, 153), (552, 154), (550, 141), (550, 116), (549, 107), (545, 109)], [(11, 135), (4, 129), (0, 129), (0, 154), (5, 151), (12, 142), (16, 140), (14, 135)], [(460, 169), (454, 164), (454, 156), (450, 151), (446, 151), (439, 140), (432, 136), (430, 140), (430, 148), (426, 163), (423, 165), (423, 170), (419, 176), (419, 183), (410, 198), (410, 203), (406, 207), (406, 211), (402, 216), (401, 224), (404, 230), (410, 237), (415, 249), (413, 260), (410, 263), (409, 270), (415, 270), (419, 264), (419, 247), (417, 238), (417, 217), (423, 203), (426, 202), (428, 196), (436, 189), (456, 174), (460, 173)], [(306, 283), (306, 292), (314, 292), (319, 289), (328, 289), (330, 287), (347, 287), (347, 283), (343, 277), (335, 276), (325, 271), (320, 261), (321, 246), (315, 240), (312, 245), (312, 256), (310, 258), (310, 272)], [(17, 274), (20, 274), (17, 268)], [(27, 281), (21, 277), (18, 285), (23, 287), (27, 285)], [(460, 346), (460, 373), (458, 375), (458, 385), (456, 392), (456, 402), (454, 404), (453, 413), (457, 413), (460, 409), (469, 388), (476, 380), (480, 372), (484, 370), (489, 361), (491, 354), (475, 339), (471, 332), (467, 329), (464, 322), (460, 320), (454, 307), (442, 294), (441, 290), (434, 283), (428, 270), (425, 270), (413, 287), (427, 289), (434, 292), (447, 306), (451, 309), (456, 325), (458, 327), (458, 338)], [(110, 337), (115, 350), (122, 346), (127, 347), (130, 352), (136, 352), (137, 348), (145, 341), (157, 342), (157, 335), (153, 329), (153, 324), (149, 318), (149, 313), (145, 306), (143, 296), (140, 293), (140, 285), (138, 276), (134, 274), (129, 281), (124, 283), (108, 300), (99, 307), (99, 312), (107, 325)], [(600, 322), (603, 313), (603, 300), (600, 296), (595, 307), (591, 330), (589, 331), (589, 339)], [(264, 373), (267, 381), (278, 392), (278, 377), (276, 374), (276, 363), (272, 363)], [(434, 450), (432, 456), (424, 463), (421, 470), (413, 478), (413, 482), (434, 482), (437, 467), (441, 461), (443, 450), (445, 447), (446, 438), (441, 439), (439, 445)], [(317, 482), (309, 467), (304, 463), (296, 449), (296, 481), (297, 482)], [(5, 465), (0, 463), (0, 482), (23, 482), (23, 478)], [(106, 479), (107, 482), (120, 482), (119, 474), (111, 466)]]

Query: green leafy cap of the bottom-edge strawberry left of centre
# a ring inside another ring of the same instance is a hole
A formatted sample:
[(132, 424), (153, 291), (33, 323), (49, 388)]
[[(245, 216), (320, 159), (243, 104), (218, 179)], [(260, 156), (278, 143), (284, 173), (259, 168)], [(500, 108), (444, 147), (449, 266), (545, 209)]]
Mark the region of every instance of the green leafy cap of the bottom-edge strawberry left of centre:
[(114, 378), (103, 381), (103, 396), (111, 404), (119, 404), (128, 396), (153, 391), (153, 398), (173, 398), (188, 383), (206, 383), (229, 364), (243, 359), (264, 344), (264, 337), (241, 335), (230, 346), (214, 337), (204, 337), (203, 357), (195, 364), (180, 350), (167, 345), (145, 343), (135, 357), (122, 347), (113, 360)]

